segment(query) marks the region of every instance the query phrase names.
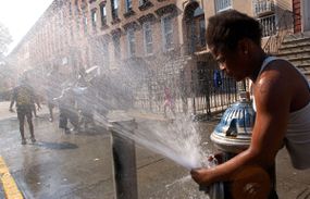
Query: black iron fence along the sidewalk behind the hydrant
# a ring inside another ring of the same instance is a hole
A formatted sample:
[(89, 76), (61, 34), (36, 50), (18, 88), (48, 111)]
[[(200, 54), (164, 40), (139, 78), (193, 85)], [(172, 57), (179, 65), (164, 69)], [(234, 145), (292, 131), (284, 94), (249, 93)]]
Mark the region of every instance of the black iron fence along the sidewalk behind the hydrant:
[[(202, 72), (203, 71), (203, 72)], [(193, 71), (191, 73), (208, 73), (204, 78), (186, 80), (183, 78), (168, 80), (175, 112), (187, 112), (194, 115), (208, 115), (224, 111), (237, 100), (236, 82), (226, 76), (221, 77), (221, 85), (215, 85), (214, 70)], [(134, 103), (140, 110), (162, 113), (164, 110), (164, 87), (156, 80), (140, 85), (135, 89)]]

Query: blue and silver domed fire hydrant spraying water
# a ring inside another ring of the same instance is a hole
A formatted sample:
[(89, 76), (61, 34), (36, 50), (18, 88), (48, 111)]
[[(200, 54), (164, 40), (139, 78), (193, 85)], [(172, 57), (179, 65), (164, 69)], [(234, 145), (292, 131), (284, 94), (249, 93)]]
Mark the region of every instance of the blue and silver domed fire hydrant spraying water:
[[(248, 92), (228, 108), (210, 138), (223, 153), (223, 162), (246, 150), (251, 141), (256, 112)], [(275, 166), (265, 171), (260, 166), (240, 167), (230, 182), (222, 183), (223, 198), (268, 198), (275, 187)], [(212, 196), (210, 195), (212, 198)]]

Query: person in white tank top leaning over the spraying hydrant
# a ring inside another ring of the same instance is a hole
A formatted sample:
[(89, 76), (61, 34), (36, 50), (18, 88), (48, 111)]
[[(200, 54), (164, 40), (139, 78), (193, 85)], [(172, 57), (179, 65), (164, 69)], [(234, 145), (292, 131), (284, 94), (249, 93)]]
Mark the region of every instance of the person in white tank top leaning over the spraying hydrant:
[[(203, 186), (227, 182), (236, 187), (238, 179), (244, 181), (243, 177), (253, 171), (260, 171), (253, 181), (262, 179), (264, 173), (270, 177), (283, 146), (295, 169), (309, 169), (310, 88), (307, 78), (288, 61), (263, 51), (259, 22), (244, 13), (230, 10), (210, 17), (206, 37), (222, 71), (237, 82), (246, 77), (252, 80), (257, 114), (249, 148), (214, 167), (193, 169), (194, 181)], [(277, 198), (272, 179), (231, 194), (233, 198)], [(246, 178), (244, 185), (249, 183)], [(261, 191), (262, 187), (268, 189)]]

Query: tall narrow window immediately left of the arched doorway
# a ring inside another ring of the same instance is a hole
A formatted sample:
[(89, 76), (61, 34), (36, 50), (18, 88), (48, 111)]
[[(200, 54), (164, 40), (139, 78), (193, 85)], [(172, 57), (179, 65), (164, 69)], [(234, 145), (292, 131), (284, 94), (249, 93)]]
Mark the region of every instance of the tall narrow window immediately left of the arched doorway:
[(163, 16), (161, 18), (163, 50), (171, 50), (173, 48), (173, 29), (172, 17)]

